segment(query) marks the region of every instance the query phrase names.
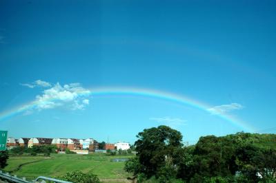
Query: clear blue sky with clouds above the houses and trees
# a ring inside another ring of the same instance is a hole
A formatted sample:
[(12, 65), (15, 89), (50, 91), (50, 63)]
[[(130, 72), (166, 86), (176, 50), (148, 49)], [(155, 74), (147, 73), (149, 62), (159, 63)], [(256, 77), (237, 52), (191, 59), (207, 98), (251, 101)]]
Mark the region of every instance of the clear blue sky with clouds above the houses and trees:
[[(275, 1), (1, 1), (0, 128), (17, 138), (131, 143), (158, 125), (190, 143), (274, 128), (275, 8)], [(99, 87), (206, 105), (93, 95)]]

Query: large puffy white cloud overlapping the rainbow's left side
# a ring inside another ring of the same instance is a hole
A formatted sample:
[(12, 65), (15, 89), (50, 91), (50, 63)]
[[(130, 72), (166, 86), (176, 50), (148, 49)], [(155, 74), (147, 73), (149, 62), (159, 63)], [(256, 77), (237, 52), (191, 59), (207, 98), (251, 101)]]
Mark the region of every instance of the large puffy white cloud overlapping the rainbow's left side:
[(53, 109), (63, 107), (71, 110), (84, 109), (89, 105), (88, 97), (90, 90), (84, 89), (78, 83), (63, 85), (55, 84), (49, 89), (44, 89), (42, 94), (37, 95), (32, 110)]

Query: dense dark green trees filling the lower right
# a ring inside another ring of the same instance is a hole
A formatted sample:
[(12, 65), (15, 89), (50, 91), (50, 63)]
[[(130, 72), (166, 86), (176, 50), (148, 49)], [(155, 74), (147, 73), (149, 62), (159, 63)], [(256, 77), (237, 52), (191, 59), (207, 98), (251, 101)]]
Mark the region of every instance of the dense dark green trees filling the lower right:
[(276, 136), (236, 133), (204, 136), (183, 147), (181, 133), (166, 126), (144, 129), (135, 142), (137, 157), (125, 170), (138, 182), (276, 182)]

